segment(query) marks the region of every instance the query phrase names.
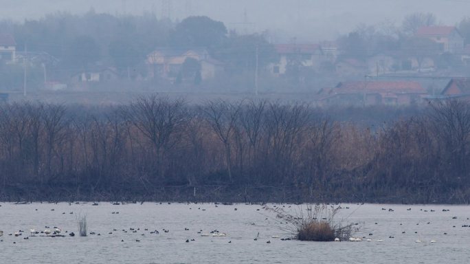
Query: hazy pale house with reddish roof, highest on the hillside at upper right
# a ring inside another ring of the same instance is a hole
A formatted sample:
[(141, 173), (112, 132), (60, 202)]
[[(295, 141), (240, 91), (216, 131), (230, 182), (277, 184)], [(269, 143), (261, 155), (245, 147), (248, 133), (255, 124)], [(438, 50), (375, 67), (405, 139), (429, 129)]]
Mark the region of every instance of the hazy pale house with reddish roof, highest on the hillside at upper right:
[(456, 27), (433, 25), (419, 28), (416, 36), (425, 37), (440, 45), (442, 52), (458, 54), (464, 48), (464, 38)]

